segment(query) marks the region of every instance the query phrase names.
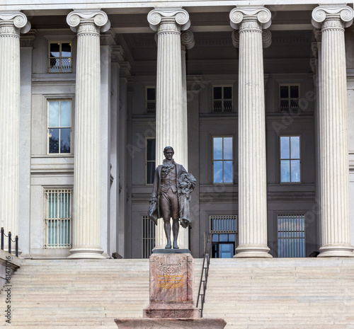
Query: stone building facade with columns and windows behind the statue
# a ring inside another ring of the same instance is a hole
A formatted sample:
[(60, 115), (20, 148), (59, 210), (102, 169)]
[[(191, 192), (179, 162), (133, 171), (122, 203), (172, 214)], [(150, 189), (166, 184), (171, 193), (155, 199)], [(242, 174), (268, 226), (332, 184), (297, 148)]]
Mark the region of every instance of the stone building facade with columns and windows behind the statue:
[(336, 0), (0, 4), (1, 226), (25, 258), (146, 258), (171, 145), (193, 256), (212, 233), (214, 257), (352, 257), (352, 23)]

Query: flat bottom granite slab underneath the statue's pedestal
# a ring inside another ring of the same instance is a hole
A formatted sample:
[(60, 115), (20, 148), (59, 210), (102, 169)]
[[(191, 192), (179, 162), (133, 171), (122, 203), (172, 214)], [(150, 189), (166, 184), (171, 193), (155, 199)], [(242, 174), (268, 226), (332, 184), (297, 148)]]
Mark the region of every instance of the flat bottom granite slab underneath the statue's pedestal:
[(118, 329), (223, 329), (226, 321), (222, 318), (130, 318), (115, 319)]

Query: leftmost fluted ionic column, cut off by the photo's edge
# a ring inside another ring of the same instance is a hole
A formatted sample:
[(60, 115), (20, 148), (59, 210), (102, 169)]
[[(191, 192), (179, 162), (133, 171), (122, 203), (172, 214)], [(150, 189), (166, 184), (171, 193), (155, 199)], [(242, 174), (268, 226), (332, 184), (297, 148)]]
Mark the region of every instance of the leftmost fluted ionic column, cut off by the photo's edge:
[(20, 32), (29, 30), (23, 13), (0, 11), (0, 225), (13, 240), (20, 185)]

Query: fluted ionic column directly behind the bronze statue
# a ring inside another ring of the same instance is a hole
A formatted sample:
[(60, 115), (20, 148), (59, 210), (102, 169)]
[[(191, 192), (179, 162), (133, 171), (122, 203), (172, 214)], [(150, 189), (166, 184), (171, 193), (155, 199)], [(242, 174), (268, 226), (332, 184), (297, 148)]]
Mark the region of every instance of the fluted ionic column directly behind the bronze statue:
[[(188, 165), (187, 126), (183, 105), (181, 30), (189, 28), (187, 11), (182, 8), (159, 8), (147, 19), (157, 31), (156, 81), (156, 164), (164, 160), (164, 147), (172, 146), (175, 160)], [(155, 248), (164, 248), (166, 237), (162, 219), (156, 228)], [(180, 229), (178, 246), (188, 248), (188, 231)]]

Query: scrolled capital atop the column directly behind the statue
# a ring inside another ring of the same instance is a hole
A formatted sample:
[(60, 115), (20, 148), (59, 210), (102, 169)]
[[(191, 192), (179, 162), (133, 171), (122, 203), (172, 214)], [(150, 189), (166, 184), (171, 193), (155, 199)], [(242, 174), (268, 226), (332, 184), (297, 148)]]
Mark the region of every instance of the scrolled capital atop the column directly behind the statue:
[(147, 15), (147, 21), (149, 21), (150, 28), (152, 30), (159, 30), (159, 24), (166, 19), (173, 19), (176, 24), (181, 26), (181, 30), (188, 30), (190, 27), (189, 14), (185, 9), (181, 7), (177, 8), (155, 8)]

